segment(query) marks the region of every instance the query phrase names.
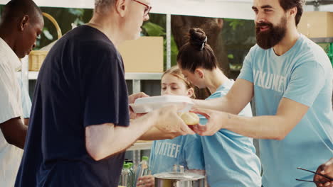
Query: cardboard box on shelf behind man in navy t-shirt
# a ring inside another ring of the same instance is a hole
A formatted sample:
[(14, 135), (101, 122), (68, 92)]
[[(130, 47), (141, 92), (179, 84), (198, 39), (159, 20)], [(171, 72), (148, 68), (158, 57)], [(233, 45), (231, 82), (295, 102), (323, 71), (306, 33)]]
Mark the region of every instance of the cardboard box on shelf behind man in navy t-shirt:
[(119, 47), (125, 72), (163, 72), (163, 37), (141, 37)]

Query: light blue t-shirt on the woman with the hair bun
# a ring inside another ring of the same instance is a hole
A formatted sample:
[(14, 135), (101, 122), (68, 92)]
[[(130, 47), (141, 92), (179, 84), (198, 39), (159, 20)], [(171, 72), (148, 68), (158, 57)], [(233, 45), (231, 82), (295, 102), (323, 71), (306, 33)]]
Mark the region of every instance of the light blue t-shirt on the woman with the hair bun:
[[(226, 96), (234, 81), (222, 84), (206, 100)], [(238, 115), (251, 117), (250, 104)], [(200, 116), (200, 123), (207, 119)], [(212, 136), (201, 137), (208, 185), (211, 187), (260, 187), (260, 160), (255, 154), (253, 139), (221, 129)]]

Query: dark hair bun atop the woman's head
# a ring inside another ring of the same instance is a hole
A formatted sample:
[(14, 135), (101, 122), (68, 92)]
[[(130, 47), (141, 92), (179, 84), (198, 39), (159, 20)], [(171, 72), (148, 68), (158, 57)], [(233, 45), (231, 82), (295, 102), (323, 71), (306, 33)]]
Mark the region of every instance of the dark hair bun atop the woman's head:
[(207, 42), (206, 33), (201, 28), (191, 28), (189, 30), (189, 43), (193, 45), (196, 50), (203, 50)]

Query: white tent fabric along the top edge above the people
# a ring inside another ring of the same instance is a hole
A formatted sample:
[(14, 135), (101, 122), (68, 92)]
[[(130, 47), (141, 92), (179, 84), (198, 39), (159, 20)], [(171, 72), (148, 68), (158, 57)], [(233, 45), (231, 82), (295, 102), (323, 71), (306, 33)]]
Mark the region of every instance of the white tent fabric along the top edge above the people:
[[(6, 4), (9, 0), (0, 0)], [(34, 0), (38, 6), (93, 8), (95, 0)], [(320, 0), (318, 0), (320, 3)], [(169, 13), (187, 16), (215, 18), (253, 19), (253, 0), (151, 0), (152, 13)], [(314, 6), (306, 6), (305, 11), (314, 11)], [(330, 5), (319, 6), (319, 11), (333, 11)]]

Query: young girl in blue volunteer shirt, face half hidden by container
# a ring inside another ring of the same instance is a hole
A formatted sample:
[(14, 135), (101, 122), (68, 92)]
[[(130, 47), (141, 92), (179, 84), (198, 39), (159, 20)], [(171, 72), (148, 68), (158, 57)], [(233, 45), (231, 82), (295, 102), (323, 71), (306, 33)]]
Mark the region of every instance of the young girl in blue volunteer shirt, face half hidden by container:
[[(178, 67), (171, 67), (164, 72), (161, 87), (161, 95), (195, 97), (193, 86), (186, 81)], [(174, 164), (184, 166), (189, 172), (204, 174), (199, 135), (184, 135), (172, 140), (154, 141), (149, 159), (149, 169), (152, 170), (152, 174), (172, 171)], [(154, 177), (139, 178), (137, 186), (154, 186)]]

